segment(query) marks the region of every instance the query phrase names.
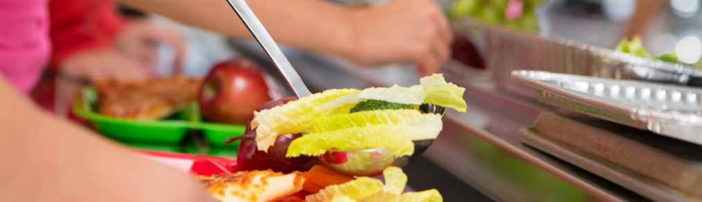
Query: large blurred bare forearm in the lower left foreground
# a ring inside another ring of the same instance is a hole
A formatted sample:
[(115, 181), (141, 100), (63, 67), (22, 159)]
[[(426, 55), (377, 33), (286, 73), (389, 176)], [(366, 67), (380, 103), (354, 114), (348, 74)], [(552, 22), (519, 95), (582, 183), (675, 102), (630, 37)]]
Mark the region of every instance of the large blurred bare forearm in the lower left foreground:
[(213, 201), (194, 179), (32, 106), (0, 75), (0, 201)]

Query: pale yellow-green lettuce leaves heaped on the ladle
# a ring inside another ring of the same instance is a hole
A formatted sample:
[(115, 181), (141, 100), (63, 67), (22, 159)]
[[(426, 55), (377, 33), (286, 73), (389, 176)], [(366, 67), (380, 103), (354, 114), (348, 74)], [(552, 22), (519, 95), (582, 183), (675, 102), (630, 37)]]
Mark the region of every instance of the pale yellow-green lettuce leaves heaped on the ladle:
[[(330, 89), (283, 106), (255, 113), (258, 150), (267, 150), (279, 134), (301, 133), (293, 140), (286, 157), (319, 156), (326, 150), (363, 150), (389, 147), (397, 157), (412, 154), (412, 140), (433, 139), (442, 129), (442, 116), (415, 109), (369, 110), (350, 113), (357, 103), (369, 99), (408, 104), (423, 103), (456, 108), (465, 112), (465, 89), (446, 83), (442, 75), (420, 79), (411, 87)], [(317, 124), (315, 124), (317, 123)], [(329, 127), (329, 123), (336, 123)], [(326, 129), (322, 130), (322, 128)], [(317, 129), (317, 131), (315, 131)]]

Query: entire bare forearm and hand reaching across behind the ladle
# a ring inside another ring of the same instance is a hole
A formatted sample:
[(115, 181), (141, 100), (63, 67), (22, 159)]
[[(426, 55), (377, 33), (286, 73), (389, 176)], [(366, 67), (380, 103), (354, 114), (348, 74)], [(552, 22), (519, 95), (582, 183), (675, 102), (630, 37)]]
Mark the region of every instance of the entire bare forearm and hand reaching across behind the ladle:
[[(117, 1), (232, 37), (251, 38), (225, 1)], [(431, 0), (393, 0), (373, 8), (347, 8), (319, 0), (246, 3), (275, 41), (346, 57), (357, 64), (409, 62), (419, 66), (421, 75), (430, 75), (451, 52), (449, 25)]]

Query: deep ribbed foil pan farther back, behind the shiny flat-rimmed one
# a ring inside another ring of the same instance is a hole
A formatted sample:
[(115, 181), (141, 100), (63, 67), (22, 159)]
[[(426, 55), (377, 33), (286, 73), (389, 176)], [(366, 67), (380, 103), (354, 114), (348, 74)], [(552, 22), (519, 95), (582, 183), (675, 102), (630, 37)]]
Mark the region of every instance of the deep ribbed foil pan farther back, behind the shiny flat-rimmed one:
[(588, 75), (620, 80), (646, 80), (702, 86), (702, 70), (574, 41), (547, 38), (465, 19), (454, 29), (470, 38), (486, 57), (498, 87), (531, 99), (536, 92), (511, 80), (515, 70)]

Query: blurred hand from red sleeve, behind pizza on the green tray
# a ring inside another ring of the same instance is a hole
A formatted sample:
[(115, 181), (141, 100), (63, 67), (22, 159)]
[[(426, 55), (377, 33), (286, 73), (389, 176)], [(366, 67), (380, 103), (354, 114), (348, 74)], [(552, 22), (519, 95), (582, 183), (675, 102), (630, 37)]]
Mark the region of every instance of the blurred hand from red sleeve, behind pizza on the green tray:
[(159, 59), (156, 45), (159, 43), (174, 49), (174, 72), (178, 73), (185, 54), (185, 38), (178, 31), (147, 20), (129, 22), (116, 36), (112, 47), (74, 52), (59, 65), (62, 75), (71, 78), (143, 80), (154, 75), (153, 66)]

